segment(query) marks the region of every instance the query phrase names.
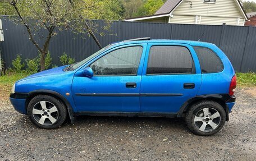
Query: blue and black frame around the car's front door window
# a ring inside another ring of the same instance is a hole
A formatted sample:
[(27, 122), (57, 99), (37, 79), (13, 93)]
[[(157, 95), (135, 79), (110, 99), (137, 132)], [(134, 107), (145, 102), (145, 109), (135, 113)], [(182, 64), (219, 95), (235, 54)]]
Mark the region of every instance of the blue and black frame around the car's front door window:
[[(119, 50), (119, 49), (123, 49), (123, 48), (130, 48), (130, 47), (141, 47), (142, 48), (142, 52), (140, 54), (140, 61), (139, 61), (139, 66), (140, 66), (140, 62), (141, 62), (141, 57), (142, 57), (142, 54), (143, 54), (143, 51), (144, 51), (144, 47), (142, 44), (138, 44), (138, 45), (131, 45), (131, 46), (125, 46), (125, 47), (121, 47), (121, 48), (116, 48), (116, 49), (113, 49), (111, 51), (108, 51), (106, 53), (104, 53), (102, 56), (100, 56), (98, 59), (106, 56), (107, 54), (111, 53), (111, 52), (114, 52), (115, 50)], [(98, 61), (98, 59), (95, 59), (95, 61), (93, 62), (90, 62), (89, 65), (87, 65), (86, 67), (90, 67), (90, 65), (92, 65), (94, 62)], [(138, 69), (136, 71), (136, 74), (129, 74), (129, 75), (93, 75), (93, 76), (138, 76), (138, 71), (139, 71), (139, 66), (138, 66)], [(85, 68), (86, 68), (85, 67)]]

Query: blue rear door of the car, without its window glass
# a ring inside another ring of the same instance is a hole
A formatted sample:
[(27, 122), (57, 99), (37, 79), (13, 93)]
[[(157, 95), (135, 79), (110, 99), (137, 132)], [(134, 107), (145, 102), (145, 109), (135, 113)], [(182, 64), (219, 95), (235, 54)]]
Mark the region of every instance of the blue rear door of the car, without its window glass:
[(141, 112), (177, 113), (198, 93), (199, 61), (187, 44), (148, 44), (141, 76)]

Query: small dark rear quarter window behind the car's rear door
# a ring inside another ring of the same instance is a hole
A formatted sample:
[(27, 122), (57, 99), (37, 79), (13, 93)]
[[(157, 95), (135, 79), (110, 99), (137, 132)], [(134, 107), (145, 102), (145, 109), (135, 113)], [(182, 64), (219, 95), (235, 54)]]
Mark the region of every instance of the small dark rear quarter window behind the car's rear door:
[(221, 59), (211, 49), (194, 47), (202, 73), (216, 73), (223, 70)]

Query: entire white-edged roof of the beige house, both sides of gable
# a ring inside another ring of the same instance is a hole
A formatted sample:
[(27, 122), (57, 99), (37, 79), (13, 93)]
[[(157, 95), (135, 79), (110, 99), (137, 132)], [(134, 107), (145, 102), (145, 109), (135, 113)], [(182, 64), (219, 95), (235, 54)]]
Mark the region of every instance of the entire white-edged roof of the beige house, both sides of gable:
[[(133, 17), (130, 19), (126, 19), (126, 21), (138, 21), (138, 20), (145, 20), (145, 19), (154, 19), (157, 17), (164, 17), (164, 16), (170, 16), (170, 13), (175, 10), (181, 2), (184, 0), (167, 0), (159, 10), (154, 13), (154, 15), (150, 16), (141, 16), (141, 17)], [(243, 13), (245, 20), (248, 20), (248, 16), (246, 15), (244, 8), (239, 0), (235, 0), (239, 6), (239, 9)]]

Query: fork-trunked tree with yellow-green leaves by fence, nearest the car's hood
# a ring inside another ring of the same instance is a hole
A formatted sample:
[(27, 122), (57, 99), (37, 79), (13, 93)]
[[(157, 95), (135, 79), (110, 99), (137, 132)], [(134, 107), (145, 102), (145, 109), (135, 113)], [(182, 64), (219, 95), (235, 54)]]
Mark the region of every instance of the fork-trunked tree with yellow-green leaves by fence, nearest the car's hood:
[[(19, 20), (13, 19), (13, 21), (26, 27), (29, 40), (39, 50), (41, 71), (45, 70), (45, 56), (51, 39), (58, 31), (72, 29), (88, 33), (97, 39), (93, 34), (93, 27), (90, 27), (86, 19), (102, 15), (104, 11), (103, 6), (91, 0), (4, 0), (3, 2), (8, 6), (4, 8), (4, 12), (15, 11)], [(46, 36), (41, 29), (47, 31)], [(35, 34), (39, 39), (35, 38)], [(43, 45), (39, 42), (43, 42)]]

